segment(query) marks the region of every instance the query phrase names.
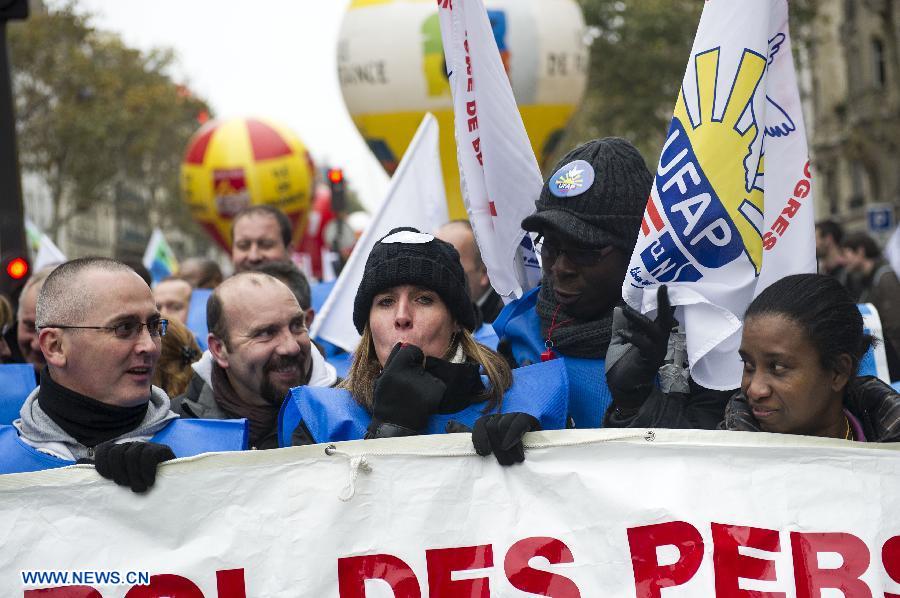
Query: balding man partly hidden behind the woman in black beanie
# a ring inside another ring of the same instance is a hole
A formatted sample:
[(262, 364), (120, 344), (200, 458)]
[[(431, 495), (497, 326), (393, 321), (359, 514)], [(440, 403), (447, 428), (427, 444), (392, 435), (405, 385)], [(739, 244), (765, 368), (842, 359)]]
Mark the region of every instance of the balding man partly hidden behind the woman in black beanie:
[(490, 324), (503, 309), (503, 298), (491, 286), (487, 266), (481, 259), (481, 251), (475, 242), (475, 233), (468, 220), (451, 220), (435, 231), (434, 236), (453, 245), (459, 253), (469, 296), (475, 301), (475, 329), (482, 324)]

